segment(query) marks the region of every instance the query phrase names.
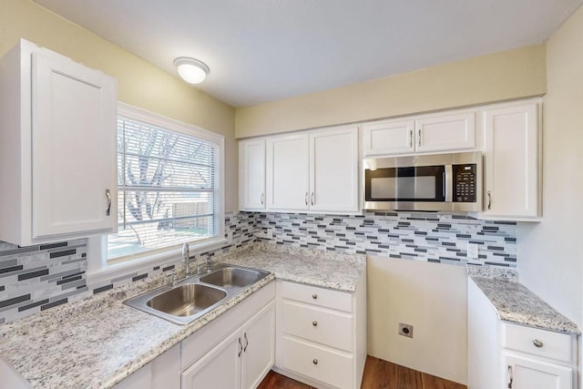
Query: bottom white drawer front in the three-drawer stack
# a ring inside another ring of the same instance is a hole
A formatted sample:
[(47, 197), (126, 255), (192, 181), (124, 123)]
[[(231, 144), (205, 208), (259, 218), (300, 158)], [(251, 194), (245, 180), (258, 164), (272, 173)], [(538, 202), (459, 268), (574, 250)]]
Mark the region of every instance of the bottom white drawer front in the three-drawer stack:
[(281, 368), (338, 388), (353, 387), (353, 356), (281, 337)]

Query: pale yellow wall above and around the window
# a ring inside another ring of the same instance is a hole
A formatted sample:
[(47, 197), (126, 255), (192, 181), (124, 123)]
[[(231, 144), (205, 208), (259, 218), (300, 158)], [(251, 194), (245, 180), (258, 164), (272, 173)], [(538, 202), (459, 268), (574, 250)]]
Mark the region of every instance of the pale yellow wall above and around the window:
[(237, 209), (234, 108), (31, 0), (0, 1), (0, 56), (21, 37), (116, 77), (124, 103), (224, 135), (226, 210)]

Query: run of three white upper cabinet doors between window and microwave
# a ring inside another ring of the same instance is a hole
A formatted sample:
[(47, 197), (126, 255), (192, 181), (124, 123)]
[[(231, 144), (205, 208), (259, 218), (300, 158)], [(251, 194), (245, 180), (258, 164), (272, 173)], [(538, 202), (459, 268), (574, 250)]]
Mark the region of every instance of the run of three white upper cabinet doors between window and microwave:
[(360, 209), (358, 128), (240, 141), (240, 210)]

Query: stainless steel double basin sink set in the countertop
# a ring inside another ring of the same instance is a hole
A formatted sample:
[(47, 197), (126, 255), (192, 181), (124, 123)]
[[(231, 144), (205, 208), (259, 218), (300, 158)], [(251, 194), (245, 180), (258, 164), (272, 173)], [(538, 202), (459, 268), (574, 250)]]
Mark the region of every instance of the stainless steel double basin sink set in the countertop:
[(140, 294), (124, 303), (176, 324), (188, 324), (270, 275), (269, 271), (220, 264), (212, 271)]

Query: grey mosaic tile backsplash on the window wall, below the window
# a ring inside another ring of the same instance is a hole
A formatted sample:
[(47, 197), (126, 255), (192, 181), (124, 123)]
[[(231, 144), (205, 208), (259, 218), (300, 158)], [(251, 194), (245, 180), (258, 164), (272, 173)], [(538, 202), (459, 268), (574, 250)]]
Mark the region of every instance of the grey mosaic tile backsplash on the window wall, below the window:
[[(202, 261), (206, 256), (249, 244), (254, 240), (254, 224), (252, 214), (229, 214), (225, 217), (228, 244), (215, 251), (194, 251), (191, 254)], [(97, 284), (87, 284), (85, 239), (27, 247), (0, 241), (0, 324), (158, 275), (175, 266), (149, 267)]]

